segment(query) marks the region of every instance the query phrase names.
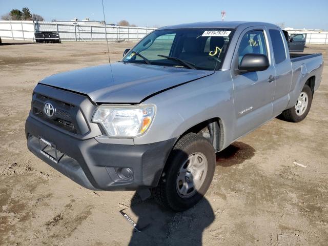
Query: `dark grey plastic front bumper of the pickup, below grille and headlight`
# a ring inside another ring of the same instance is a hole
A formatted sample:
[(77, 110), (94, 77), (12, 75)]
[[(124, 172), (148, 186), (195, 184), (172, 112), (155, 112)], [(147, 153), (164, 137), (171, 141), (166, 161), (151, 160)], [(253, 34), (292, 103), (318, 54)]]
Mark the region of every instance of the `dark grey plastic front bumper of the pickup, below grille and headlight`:
[[(81, 140), (29, 116), (25, 132), (28, 149), (51, 167), (91, 190), (138, 190), (156, 187), (175, 138), (148, 145), (101, 144)], [(42, 153), (39, 137), (51, 141), (64, 156), (56, 163)], [(121, 178), (122, 169), (132, 177)]]

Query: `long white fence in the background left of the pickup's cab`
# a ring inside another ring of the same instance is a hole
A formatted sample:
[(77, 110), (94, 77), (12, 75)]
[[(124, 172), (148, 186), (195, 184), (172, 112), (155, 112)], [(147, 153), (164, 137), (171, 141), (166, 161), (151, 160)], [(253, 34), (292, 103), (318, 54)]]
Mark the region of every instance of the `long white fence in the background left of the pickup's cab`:
[(34, 40), (35, 32), (58, 32), (62, 41), (138, 40), (155, 28), (0, 21), (3, 39)]

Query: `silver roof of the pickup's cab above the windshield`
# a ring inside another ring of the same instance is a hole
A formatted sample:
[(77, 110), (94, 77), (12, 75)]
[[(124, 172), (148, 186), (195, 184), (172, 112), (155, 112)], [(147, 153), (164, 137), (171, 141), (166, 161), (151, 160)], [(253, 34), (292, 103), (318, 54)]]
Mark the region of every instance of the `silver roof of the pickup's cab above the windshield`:
[(237, 28), (239, 26), (243, 26), (244, 28), (251, 27), (251, 26), (278, 27), (274, 24), (265, 23), (265, 22), (196, 22), (196, 23), (187, 23), (187, 24), (161, 27), (157, 30), (175, 29), (175, 28)]

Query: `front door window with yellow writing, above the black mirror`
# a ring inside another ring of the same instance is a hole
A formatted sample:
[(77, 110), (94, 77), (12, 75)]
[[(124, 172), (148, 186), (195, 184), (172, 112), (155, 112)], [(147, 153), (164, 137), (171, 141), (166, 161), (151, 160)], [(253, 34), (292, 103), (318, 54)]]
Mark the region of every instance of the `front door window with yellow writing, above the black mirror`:
[(238, 49), (239, 64), (245, 54), (268, 55), (263, 31), (249, 31), (242, 37)]

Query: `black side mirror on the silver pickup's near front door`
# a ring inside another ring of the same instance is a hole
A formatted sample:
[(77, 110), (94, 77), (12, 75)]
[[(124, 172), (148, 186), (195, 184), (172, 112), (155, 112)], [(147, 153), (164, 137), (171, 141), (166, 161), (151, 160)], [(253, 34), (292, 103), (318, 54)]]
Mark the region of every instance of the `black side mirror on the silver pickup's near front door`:
[(238, 67), (241, 72), (257, 72), (269, 68), (268, 56), (263, 54), (245, 54)]

